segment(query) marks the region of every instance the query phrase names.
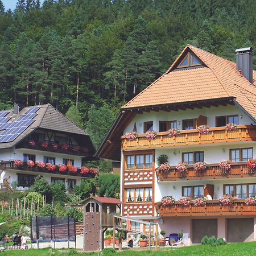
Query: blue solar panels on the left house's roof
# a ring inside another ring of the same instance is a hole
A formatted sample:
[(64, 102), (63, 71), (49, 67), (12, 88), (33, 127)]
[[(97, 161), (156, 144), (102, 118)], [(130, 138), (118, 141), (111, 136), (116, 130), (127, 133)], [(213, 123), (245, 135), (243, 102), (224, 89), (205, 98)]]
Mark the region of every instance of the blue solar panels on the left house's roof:
[[(30, 108), (27, 110), (26, 113), (21, 115), (15, 122), (10, 122), (10, 123), (1, 123), (1, 113), (0, 113), (0, 130), (5, 130), (0, 134), (0, 143), (12, 142), (21, 133), (23, 133), (23, 131), (26, 130), (27, 127), (30, 126), (35, 121), (35, 119), (32, 119), (32, 118), (34, 118), (37, 115), (35, 112), (38, 111), (38, 109), (39, 107)], [(9, 119), (7, 121), (9, 121)]]

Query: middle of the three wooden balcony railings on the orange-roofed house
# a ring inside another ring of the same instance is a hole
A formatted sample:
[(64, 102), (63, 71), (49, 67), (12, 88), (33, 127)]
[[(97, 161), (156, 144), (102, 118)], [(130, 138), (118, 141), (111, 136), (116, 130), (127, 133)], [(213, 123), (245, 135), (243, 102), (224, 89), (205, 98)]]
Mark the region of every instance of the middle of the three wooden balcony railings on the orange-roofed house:
[(199, 180), (199, 179), (223, 179), (229, 177), (255, 177), (256, 172), (247, 168), (245, 162), (232, 163), (229, 171), (222, 170), (218, 164), (207, 164), (204, 171), (195, 171), (193, 166), (188, 167), (187, 172), (179, 172), (176, 167), (171, 167), (169, 171), (156, 170), (158, 181), (174, 180)]

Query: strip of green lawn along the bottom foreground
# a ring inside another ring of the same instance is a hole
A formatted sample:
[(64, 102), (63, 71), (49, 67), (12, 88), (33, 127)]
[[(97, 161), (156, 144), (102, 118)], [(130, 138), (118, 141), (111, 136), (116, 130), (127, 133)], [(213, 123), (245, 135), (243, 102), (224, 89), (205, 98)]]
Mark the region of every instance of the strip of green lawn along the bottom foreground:
[[(54, 256), (59, 255), (71, 255), (68, 250), (54, 250)], [(128, 249), (121, 252), (114, 253), (115, 255), (122, 256), (142, 256), (142, 255), (179, 255), (179, 256), (190, 256), (190, 255), (226, 255), (226, 256), (253, 256), (256, 255), (256, 242), (247, 242), (247, 243), (230, 243), (229, 245), (221, 245), (217, 247), (212, 247), (208, 245), (197, 245), (197, 246), (187, 246), (182, 248), (165, 248), (161, 247), (158, 251), (152, 249), (149, 250), (138, 250), (138, 249)], [(48, 256), (49, 249), (33, 249), (26, 251), (4, 251), (0, 253), (1, 256)], [(72, 255), (99, 255), (98, 253), (77, 253)], [(113, 253), (103, 253), (103, 255), (113, 255)]]

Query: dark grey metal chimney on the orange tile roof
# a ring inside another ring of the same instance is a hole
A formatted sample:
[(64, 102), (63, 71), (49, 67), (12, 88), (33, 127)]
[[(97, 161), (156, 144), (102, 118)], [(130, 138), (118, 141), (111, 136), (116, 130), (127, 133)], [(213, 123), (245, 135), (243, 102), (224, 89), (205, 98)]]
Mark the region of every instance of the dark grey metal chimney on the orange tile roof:
[(236, 49), (237, 70), (253, 84), (253, 47)]

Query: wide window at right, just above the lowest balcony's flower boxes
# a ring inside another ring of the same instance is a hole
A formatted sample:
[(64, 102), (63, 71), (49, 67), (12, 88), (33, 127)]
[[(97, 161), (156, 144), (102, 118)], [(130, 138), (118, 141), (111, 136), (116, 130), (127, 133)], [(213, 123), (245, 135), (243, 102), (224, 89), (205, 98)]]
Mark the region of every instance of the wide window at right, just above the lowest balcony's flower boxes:
[(256, 196), (256, 184), (226, 184), (224, 195), (226, 194), (236, 196), (238, 199)]

